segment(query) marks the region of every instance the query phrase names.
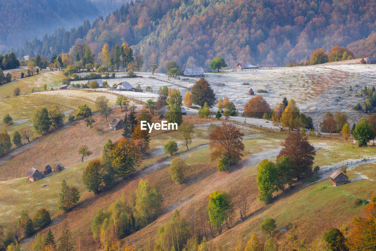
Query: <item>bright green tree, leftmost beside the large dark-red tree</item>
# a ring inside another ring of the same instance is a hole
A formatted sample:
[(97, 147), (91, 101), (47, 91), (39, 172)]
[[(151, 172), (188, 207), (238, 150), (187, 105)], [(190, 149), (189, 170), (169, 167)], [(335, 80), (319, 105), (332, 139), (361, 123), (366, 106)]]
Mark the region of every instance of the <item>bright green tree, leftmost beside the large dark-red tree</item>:
[(259, 201), (268, 204), (277, 186), (276, 166), (273, 162), (263, 160), (257, 170), (257, 188)]

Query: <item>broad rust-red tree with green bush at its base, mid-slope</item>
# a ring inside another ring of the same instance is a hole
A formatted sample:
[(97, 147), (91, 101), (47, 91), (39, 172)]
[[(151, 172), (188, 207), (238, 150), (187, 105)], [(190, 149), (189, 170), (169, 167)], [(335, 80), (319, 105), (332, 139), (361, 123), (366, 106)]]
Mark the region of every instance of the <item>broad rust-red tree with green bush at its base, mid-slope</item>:
[(220, 172), (226, 172), (230, 166), (239, 163), (244, 150), (243, 136), (239, 128), (226, 122), (222, 122), (222, 125), (217, 126), (210, 134), (210, 160), (219, 158), (217, 167)]

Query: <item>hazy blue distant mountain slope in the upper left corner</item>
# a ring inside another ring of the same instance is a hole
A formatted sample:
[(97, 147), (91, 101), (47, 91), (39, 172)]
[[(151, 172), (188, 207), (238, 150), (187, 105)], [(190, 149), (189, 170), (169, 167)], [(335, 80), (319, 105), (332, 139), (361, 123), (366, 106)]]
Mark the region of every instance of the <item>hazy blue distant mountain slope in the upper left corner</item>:
[(0, 1), (0, 10), (0, 52), (23, 45), (27, 38), (42, 37), (56, 26), (77, 25), (101, 13), (89, 0), (6, 0)]

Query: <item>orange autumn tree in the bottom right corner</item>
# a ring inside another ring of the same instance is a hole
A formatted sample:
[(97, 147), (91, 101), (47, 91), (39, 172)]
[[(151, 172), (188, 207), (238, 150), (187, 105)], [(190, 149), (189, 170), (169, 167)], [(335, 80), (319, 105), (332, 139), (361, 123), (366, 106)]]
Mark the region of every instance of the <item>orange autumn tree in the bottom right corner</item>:
[(372, 196), (371, 202), (364, 208), (364, 215), (353, 219), (353, 225), (347, 237), (350, 250), (376, 245), (376, 195)]

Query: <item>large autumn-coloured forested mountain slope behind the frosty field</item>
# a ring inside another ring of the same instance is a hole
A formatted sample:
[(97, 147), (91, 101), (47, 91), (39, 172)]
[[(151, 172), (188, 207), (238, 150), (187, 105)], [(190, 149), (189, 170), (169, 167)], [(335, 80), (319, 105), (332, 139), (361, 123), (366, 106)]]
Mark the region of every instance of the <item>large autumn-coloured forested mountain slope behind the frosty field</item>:
[[(82, 42), (97, 53), (104, 43), (127, 42), (143, 53), (146, 67), (157, 62), (161, 71), (171, 59), (180, 67), (208, 69), (214, 56), (223, 56), (230, 67), (239, 61), (285, 65), (308, 59), (314, 49), (368, 37), (376, 28), (375, 9), (371, 0), (131, 1), (97, 18), (87, 32), (60, 29), (26, 43), (17, 55), (49, 57)], [(356, 51), (355, 56), (362, 55)]]

